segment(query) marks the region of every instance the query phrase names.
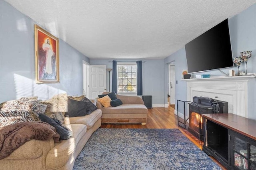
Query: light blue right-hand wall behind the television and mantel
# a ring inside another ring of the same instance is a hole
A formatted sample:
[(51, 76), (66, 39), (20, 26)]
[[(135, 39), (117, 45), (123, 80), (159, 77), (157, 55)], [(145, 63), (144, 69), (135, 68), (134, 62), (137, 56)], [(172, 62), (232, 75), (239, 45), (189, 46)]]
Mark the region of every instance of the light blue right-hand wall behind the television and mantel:
[[(230, 41), (232, 46), (233, 57), (240, 56), (242, 51), (252, 51), (252, 57), (248, 60), (248, 72), (256, 73), (256, 4), (250, 6), (248, 9), (242, 11), (240, 14), (230, 18), (228, 20), (230, 30)], [(175, 78), (178, 80), (176, 86), (176, 100), (186, 100), (186, 82), (181, 81), (180, 75), (182, 70), (186, 70), (186, 51), (183, 47), (176, 53), (170, 55), (164, 59), (165, 63), (165, 93), (168, 92), (168, 63), (175, 61), (176, 75)], [(220, 61), (221, 62), (221, 61)], [(237, 68), (226, 68), (222, 71), (228, 73), (229, 69), (233, 69), (237, 73)], [(245, 64), (240, 66), (240, 71), (245, 71)], [(223, 74), (218, 70), (201, 72), (197, 74), (211, 74), (211, 76), (222, 76)], [(193, 76), (197, 75), (193, 74)], [(250, 81), (249, 84), (248, 101), (253, 101), (254, 105), (248, 106), (248, 117), (256, 119), (256, 79)], [(165, 101), (167, 103), (167, 101)], [(179, 105), (180, 106), (180, 105)]]

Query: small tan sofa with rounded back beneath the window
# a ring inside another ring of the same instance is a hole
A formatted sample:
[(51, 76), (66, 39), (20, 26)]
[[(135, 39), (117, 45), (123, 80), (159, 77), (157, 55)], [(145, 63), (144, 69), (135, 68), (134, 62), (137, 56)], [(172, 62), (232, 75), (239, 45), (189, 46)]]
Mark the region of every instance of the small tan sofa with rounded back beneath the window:
[[(102, 94), (108, 94), (103, 92)], [(124, 96), (116, 94), (122, 101), (122, 105), (117, 107), (103, 107), (97, 101), (98, 109), (102, 110), (101, 123), (142, 123), (146, 125), (148, 109), (144, 105), (142, 98), (138, 96)]]

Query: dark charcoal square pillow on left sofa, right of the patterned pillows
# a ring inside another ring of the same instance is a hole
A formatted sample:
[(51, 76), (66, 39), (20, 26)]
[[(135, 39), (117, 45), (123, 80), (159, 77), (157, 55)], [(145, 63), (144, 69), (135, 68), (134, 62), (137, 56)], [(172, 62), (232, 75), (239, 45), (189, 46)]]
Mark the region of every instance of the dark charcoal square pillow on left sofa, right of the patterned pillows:
[(83, 101), (77, 101), (73, 99), (68, 99), (68, 112), (65, 116), (77, 117), (86, 115), (86, 103)]

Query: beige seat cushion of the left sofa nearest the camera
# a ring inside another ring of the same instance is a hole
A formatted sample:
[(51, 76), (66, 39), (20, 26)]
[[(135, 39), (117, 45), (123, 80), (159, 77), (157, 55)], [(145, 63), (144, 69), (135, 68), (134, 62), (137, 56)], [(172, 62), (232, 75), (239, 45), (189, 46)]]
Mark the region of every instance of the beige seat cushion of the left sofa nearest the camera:
[(78, 142), (86, 133), (86, 125), (70, 124), (65, 126), (73, 132), (73, 136), (60, 144), (56, 144), (48, 152), (45, 160), (46, 169), (57, 169), (64, 166), (72, 156)]

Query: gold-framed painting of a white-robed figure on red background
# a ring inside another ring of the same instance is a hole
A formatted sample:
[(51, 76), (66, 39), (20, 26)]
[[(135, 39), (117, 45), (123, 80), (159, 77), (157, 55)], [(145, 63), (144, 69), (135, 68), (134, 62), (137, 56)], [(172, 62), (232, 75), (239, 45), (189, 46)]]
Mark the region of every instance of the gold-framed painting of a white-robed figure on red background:
[(36, 84), (57, 83), (59, 39), (35, 24)]

